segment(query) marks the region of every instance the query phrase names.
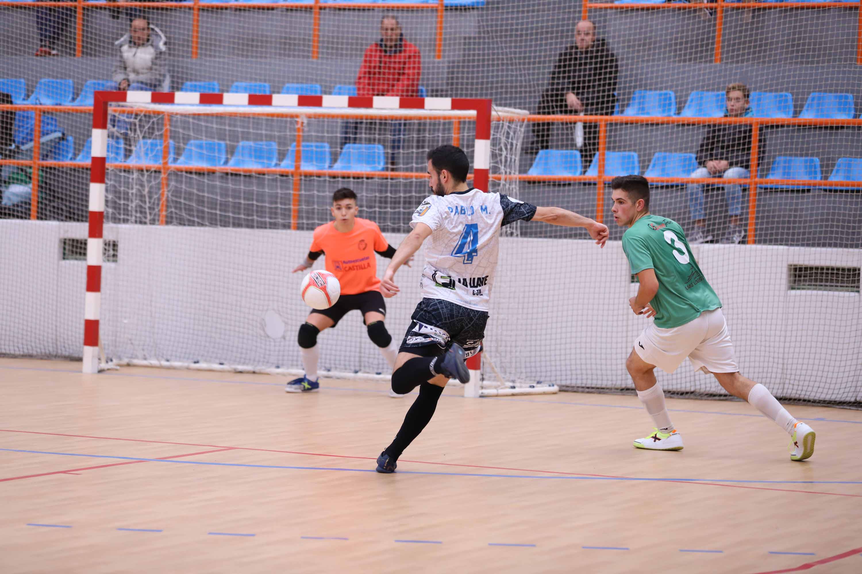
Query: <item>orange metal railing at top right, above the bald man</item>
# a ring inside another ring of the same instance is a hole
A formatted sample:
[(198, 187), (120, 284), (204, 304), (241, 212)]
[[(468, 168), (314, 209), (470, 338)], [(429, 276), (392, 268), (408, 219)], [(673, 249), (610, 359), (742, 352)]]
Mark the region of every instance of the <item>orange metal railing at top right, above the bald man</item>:
[(859, 24), (856, 31), (856, 63), (862, 65), (862, 4), (846, 2), (727, 2), (726, 0), (714, 0), (703, 3), (664, 3), (664, 4), (614, 4), (614, 3), (590, 3), (584, 0), (581, 9), (581, 20), (587, 20), (590, 9), (611, 10), (656, 10), (656, 9), (715, 9), (715, 54), (713, 61), (721, 64), (721, 36), (724, 34), (724, 10), (726, 9), (822, 9), (822, 8), (845, 8), (859, 11)]

